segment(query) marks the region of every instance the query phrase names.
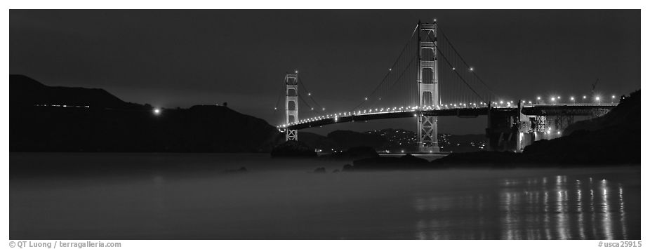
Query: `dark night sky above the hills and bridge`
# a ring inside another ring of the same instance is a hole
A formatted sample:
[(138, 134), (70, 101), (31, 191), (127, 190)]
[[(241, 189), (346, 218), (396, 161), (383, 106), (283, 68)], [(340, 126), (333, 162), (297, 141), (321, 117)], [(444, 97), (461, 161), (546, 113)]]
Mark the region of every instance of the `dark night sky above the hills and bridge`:
[[(437, 18), (500, 95), (625, 94), (641, 87), (641, 12), (632, 11), (10, 11), (10, 72), (49, 86), (105, 88), (159, 107), (228, 102), (266, 119), (284, 73), (321, 105), (350, 109), (381, 80), (418, 19)], [(301, 114), (305, 117), (305, 114)], [(483, 133), (444, 118), (441, 133)], [(415, 121), (339, 124), (369, 130)]]

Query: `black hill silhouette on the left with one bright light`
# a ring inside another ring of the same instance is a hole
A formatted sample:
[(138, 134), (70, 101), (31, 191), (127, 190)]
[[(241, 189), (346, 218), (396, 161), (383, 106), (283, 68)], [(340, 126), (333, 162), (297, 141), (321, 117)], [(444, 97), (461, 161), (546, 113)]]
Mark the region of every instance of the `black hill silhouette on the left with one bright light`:
[(151, 107), (102, 89), (45, 86), (20, 75), (9, 79), (11, 152), (270, 152), (283, 138), (263, 119), (228, 107), (154, 115)]

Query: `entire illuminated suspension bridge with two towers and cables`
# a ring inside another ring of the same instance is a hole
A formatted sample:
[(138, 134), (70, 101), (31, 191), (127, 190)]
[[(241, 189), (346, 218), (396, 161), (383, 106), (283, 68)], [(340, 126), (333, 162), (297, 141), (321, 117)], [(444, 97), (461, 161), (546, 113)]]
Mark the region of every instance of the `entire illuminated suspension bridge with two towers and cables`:
[[(527, 144), (551, 133), (560, 135), (576, 116), (600, 116), (615, 107), (616, 96), (607, 101), (590, 95), (536, 97), (504, 101), (460, 55), (449, 37), (432, 23), (418, 22), (396, 60), (383, 78), (359, 97), (359, 104), (345, 112), (325, 112), (298, 71), (284, 78), (285, 123), (277, 128), (286, 140), (298, 140), (298, 130), (334, 123), (375, 119), (418, 120), (418, 152), (439, 152), (438, 116), (488, 117), (486, 136), (494, 150), (521, 151)], [(298, 118), (298, 106), (312, 116)], [(547, 136), (548, 137), (548, 136)]]

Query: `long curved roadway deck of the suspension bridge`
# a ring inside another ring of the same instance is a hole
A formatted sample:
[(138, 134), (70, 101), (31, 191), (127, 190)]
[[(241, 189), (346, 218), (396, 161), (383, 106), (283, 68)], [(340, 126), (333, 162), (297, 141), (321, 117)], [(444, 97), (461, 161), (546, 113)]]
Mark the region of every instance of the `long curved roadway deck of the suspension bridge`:
[[(530, 116), (590, 116), (596, 109), (613, 109), (618, 103), (603, 104), (557, 104), (557, 105), (524, 105), (522, 114)], [(517, 105), (509, 107), (491, 107), (492, 112), (512, 112), (517, 115)], [(448, 108), (448, 109), (387, 109), (385, 111), (373, 111), (368, 113), (347, 113), (342, 115), (330, 114), (327, 116), (303, 119), (288, 126), (279, 126), (291, 130), (300, 130), (311, 127), (331, 125), (334, 123), (347, 123), (354, 121), (369, 121), (374, 119), (399, 119), (418, 116), (458, 116), (458, 117), (477, 117), (487, 115), (489, 107), (467, 107), (467, 108)]]

